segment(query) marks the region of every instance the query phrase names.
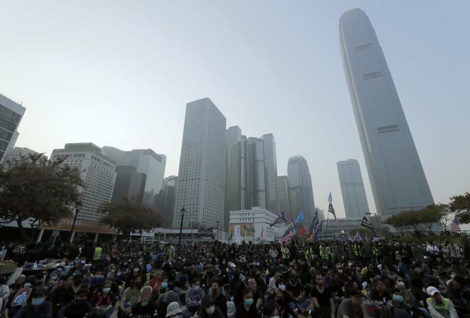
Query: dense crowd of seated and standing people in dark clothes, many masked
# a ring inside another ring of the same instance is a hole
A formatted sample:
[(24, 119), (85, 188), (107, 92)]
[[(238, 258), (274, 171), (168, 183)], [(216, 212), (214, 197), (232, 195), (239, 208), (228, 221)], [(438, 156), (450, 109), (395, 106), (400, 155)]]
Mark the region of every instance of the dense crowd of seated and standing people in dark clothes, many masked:
[[(457, 237), (458, 238), (458, 237)], [(470, 241), (460, 244), (3, 243), (6, 318), (464, 318)], [(459, 241), (459, 240), (457, 240)], [(24, 287), (27, 299), (17, 295)]]

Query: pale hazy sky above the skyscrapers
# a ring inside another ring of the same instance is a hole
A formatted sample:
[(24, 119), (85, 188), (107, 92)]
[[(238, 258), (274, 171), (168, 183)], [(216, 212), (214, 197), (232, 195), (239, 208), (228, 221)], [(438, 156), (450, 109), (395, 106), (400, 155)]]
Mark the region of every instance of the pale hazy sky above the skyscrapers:
[(338, 21), (371, 19), (436, 202), (469, 191), (467, 1), (4, 1), (0, 92), (22, 101), (19, 147), (152, 148), (178, 174), (185, 107), (209, 97), (247, 136), (273, 133), (278, 174), (308, 162), (315, 203), (357, 159)]

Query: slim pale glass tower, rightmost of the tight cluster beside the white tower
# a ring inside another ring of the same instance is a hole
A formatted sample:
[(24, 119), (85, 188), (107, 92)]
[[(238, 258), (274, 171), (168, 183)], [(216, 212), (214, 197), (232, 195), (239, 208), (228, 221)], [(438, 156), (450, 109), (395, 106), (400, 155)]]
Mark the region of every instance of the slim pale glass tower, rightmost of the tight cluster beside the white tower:
[(264, 178), (266, 182), (266, 209), (274, 214), (279, 213), (278, 164), (276, 160), (276, 143), (273, 134), (260, 138), (264, 150)]

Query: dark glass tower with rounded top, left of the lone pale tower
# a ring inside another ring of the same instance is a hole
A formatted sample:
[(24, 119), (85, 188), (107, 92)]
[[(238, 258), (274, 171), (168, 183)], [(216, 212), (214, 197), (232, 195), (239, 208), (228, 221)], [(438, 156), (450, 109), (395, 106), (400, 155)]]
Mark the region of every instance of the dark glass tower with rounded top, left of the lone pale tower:
[(312, 177), (303, 156), (297, 155), (289, 158), (287, 177), (290, 186), (292, 217), (296, 218), (300, 211), (304, 211), (304, 219), (311, 220), (315, 215), (315, 201), (313, 200)]

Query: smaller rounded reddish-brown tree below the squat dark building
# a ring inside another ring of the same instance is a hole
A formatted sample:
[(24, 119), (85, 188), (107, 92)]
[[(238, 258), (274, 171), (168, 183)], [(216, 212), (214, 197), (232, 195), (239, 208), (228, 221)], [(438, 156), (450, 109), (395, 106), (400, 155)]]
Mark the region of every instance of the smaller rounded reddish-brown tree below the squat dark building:
[(125, 198), (123, 202), (103, 202), (96, 212), (104, 215), (100, 224), (116, 229), (115, 237), (119, 233), (127, 236), (149, 231), (162, 223), (155, 210), (142, 204), (141, 196)]

